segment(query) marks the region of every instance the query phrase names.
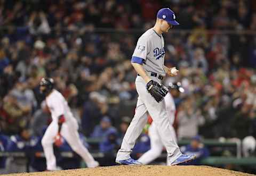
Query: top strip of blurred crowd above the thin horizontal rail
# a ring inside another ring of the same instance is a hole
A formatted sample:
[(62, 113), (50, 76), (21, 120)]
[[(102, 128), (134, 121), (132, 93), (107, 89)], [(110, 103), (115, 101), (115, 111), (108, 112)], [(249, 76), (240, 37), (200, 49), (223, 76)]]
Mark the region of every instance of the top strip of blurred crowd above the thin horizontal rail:
[[(161, 7), (171, 7), (179, 29), (202, 25), (207, 29), (256, 28), (256, 3), (252, 0), (46, 0), (0, 1), (1, 27), (29, 27), (30, 33), (84, 28), (141, 29), (154, 22)], [(10, 31), (10, 33), (13, 31)]]

